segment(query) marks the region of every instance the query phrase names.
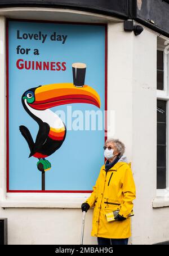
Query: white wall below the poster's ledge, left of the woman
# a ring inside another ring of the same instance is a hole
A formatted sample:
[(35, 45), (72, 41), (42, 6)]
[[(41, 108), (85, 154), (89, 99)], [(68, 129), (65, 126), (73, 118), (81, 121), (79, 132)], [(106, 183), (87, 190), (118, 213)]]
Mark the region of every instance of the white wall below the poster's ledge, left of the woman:
[[(80, 244), (82, 212), (80, 209), (6, 208), (0, 217), (8, 218), (8, 244), (71, 245)], [(85, 222), (84, 244), (96, 244), (91, 237), (92, 211)]]

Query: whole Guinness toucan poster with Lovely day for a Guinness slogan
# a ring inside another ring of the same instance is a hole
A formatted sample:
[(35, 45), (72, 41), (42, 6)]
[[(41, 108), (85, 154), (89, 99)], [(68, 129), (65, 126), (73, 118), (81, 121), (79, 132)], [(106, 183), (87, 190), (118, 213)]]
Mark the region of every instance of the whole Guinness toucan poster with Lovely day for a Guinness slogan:
[(8, 192), (91, 192), (105, 110), (105, 24), (7, 21)]

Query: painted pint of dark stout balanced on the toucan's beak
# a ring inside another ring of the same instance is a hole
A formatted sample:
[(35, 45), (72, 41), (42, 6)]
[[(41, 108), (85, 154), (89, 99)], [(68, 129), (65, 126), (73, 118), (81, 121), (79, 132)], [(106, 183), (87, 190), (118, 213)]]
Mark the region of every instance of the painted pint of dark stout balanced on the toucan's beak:
[(73, 84), (76, 87), (83, 87), (85, 74), (86, 74), (86, 64), (84, 63), (73, 63)]

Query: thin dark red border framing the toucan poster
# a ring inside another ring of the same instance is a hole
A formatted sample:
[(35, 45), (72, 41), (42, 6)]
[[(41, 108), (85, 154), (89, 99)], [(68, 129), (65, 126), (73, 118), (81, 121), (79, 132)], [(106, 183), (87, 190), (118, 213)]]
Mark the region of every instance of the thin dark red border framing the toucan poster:
[(37, 22), (37, 23), (57, 23), (57, 24), (79, 24), (79, 25), (103, 25), (105, 27), (105, 140), (107, 139), (107, 87), (108, 87), (108, 28), (105, 23), (82, 23), (82, 22), (56, 22), (46, 20), (24, 20), (24, 19), (7, 19), (6, 20), (6, 191), (7, 193), (92, 193), (91, 190), (10, 190), (9, 188), (9, 70), (8, 70), (8, 22)]

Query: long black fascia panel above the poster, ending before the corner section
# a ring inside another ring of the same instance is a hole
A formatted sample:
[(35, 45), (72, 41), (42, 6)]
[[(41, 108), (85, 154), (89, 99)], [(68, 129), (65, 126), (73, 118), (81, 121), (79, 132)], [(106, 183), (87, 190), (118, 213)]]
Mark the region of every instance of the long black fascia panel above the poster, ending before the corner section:
[(0, 0), (0, 7), (7, 6), (52, 6), (69, 7), (110, 15), (128, 16), (128, 0)]

